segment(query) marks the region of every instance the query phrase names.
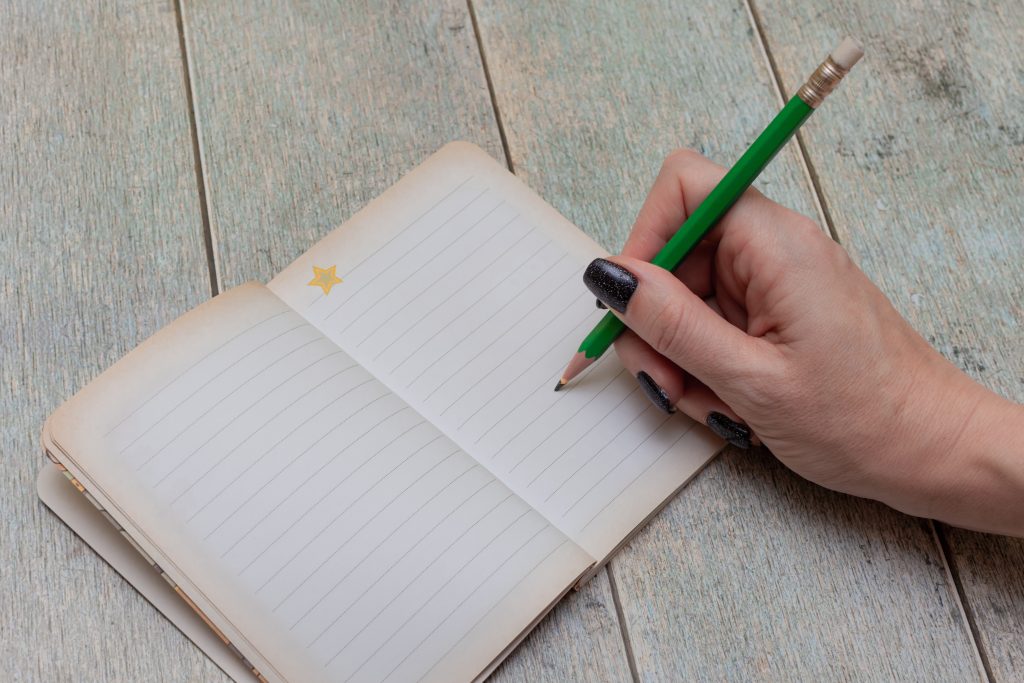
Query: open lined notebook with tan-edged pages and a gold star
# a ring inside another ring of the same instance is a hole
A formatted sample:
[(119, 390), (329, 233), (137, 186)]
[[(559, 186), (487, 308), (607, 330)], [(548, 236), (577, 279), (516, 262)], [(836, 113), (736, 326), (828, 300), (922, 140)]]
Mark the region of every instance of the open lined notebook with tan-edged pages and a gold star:
[(552, 391), (603, 254), (450, 144), (141, 344), (44, 446), (263, 678), (481, 678), (722, 445), (613, 353)]

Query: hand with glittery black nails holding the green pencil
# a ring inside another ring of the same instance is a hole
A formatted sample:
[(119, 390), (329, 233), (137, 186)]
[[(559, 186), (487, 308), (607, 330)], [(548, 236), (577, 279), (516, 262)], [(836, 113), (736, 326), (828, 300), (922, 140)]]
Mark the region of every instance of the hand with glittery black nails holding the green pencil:
[(724, 171), (668, 158), (623, 255), (584, 278), (623, 364), (745, 447), (911, 514), (1024, 535), (1024, 413), (959, 372), (813, 221), (748, 190), (675, 273), (647, 262)]

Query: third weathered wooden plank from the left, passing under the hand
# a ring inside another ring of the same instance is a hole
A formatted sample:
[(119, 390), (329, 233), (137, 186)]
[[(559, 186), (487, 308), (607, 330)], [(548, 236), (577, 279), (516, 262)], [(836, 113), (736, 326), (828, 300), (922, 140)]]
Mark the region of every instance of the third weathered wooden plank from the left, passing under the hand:
[[(779, 106), (740, 0), (474, 4), (517, 172), (609, 249), (671, 148), (730, 163)], [(802, 42), (805, 70), (830, 47)], [(799, 162), (788, 147), (759, 185), (814, 215)], [(982, 675), (930, 524), (766, 454), (727, 452), (612, 568), (641, 679)]]

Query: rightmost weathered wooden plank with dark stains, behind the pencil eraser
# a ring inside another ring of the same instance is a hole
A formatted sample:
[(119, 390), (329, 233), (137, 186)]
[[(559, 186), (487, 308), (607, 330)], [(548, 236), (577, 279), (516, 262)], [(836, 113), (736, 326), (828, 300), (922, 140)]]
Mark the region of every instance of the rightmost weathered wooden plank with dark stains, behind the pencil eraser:
[[(791, 88), (815, 43), (864, 41), (805, 134), (840, 241), (946, 357), (1024, 401), (1024, 4), (756, 4)], [(1024, 540), (943, 533), (992, 678), (1024, 678)]]

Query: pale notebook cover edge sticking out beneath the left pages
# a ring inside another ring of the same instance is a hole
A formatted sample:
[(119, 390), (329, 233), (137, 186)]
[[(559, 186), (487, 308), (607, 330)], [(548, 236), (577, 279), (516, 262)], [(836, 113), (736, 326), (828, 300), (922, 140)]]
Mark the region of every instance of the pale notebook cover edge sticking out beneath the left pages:
[(222, 640), (200, 618), (174, 589), (139, 555), (91, 503), (60, 473), (47, 464), (36, 478), (43, 504), (142, 594), (150, 604), (239, 683), (257, 679)]

